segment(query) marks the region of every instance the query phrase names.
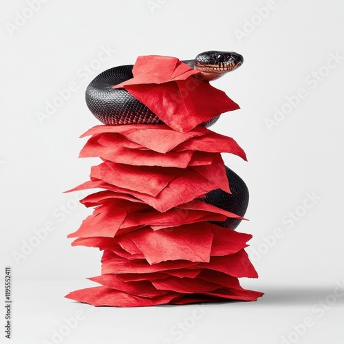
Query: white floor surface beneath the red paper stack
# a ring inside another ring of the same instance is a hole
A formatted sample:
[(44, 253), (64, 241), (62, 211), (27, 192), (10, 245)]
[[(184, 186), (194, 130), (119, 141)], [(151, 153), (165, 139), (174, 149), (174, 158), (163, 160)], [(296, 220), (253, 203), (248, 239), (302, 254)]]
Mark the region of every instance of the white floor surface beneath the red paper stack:
[[(80, 281), (15, 283), (12, 341), (8, 343), (272, 344), (283, 343), (283, 336), (290, 335), (297, 339), (294, 343), (343, 343), (344, 297), (331, 306), (325, 304), (326, 308), (316, 305), (332, 294), (334, 286), (328, 284), (261, 286), (266, 295), (248, 303), (95, 308), (63, 299), (84, 285)], [(77, 322), (71, 319), (76, 316)], [(308, 318), (311, 326), (302, 335), (290, 334), (294, 327), (302, 331), (300, 324)]]

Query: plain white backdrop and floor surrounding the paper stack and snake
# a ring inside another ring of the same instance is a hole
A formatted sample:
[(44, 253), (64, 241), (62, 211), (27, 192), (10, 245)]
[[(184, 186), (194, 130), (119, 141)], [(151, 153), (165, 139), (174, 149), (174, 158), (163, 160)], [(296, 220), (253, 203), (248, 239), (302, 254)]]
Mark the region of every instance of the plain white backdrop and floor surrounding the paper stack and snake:
[[(344, 283), (343, 1), (32, 0), (35, 11), (30, 1), (3, 2), (0, 247), (1, 269), (12, 266), (12, 343), (344, 343), (344, 297), (335, 292)], [(250, 189), (250, 221), (238, 230), (253, 235), (248, 253), (259, 279), (241, 282), (266, 295), (197, 313), (195, 305), (94, 309), (64, 299), (100, 274), (101, 252), (66, 239), (90, 210), (63, 191), (98, 163), (78, 159), (78, 136), (99, 124), (85, 88), (139, 55), (190, 59), (206, 50), (244, 56), (213, 83), (241, 109), (212, 130), (248, 155), (224, 160)], [(71, 84), (69, 98), (43, 118)], [(76, 312), (78, 324), (66, 327)], [(298, 327), (305, 318), (311, 325)]]

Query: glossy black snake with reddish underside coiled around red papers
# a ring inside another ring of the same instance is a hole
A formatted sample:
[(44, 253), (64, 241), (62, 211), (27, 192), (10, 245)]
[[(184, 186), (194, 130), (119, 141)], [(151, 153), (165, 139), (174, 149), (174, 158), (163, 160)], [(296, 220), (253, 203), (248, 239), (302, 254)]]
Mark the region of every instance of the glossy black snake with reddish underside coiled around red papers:
[[(200, 72), (195, 74), (195, 78), (208, 83), (237, 69), (244, 62), (244, 58), (236, 52), (211, 50), (198, 54), (193, 60), (182, 62)], [(96, 76), (86, 89), (87, 107), (105, 125), (164, 124), (153, 111), (131, 96), (126, 89), (113, 88), (115, 85), (133, 78), (132, 70), (133, 65), (121, 65), (107, 69)], [(210, 127), (219, 119), (220, 115), (218, 114), (202, 125)], [(225, 166), (225, 169), (231, 194), (216, 189), (206, 193), (205, 197), (200, 200), (243, 217), (248, 207), (248, 188), (239, 175), (228, 166)], [(227, 217), (222, 222), (214, 221), (213, 223), (235, 229), (240, 222), (241, 219)]]

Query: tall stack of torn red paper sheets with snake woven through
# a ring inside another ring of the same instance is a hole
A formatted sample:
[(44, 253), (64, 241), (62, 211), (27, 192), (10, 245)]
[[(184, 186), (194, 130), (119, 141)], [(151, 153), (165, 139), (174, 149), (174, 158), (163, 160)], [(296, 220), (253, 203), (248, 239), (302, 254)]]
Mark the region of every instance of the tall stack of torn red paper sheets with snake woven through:
[[(193, 76), (186, 81), (189, 78)], [(173, 83), (178, 87), (175, 80), (164, 79), (162, 85), (143, 87), (142, 94), (150, 99), (158, 94), (160, 99), (166, 83), (169, 88)], [(140, 93), (142, 89), (136, 87)], [(149, 103), (142, 94), (138, 98)], [(167, 91), (162, 98), (168, 107)], [(160, 111), (166, 104), (158, 105)], [(183, 109), (175, 111), (190, 114), (185, 102), (179, 104)], [(213, 105), (210, 108), (202, 111), (213, 111), (216, 116)], [(95, 207), (94, 213), (68, 237), (77, 238), (73, 246), (98, 247), (104, 252), (101, 275), (91, 278), (101, 286), (71, 292), (69, 299), (133, 307), (255, 301), (262, 295), (244, 290), (238, 281), (239, 277), (257, 277), (244, 250), (251, 235), (210, 222), (241, 217), (199, 200), (215, 189), (230, 192), (220, 153), (246, 159), (245, 153), (232, 138), (198, 125), (211, 118), (197, 116), (198, 111), (191, 111), (192, 124), (185, 119), (178, 122), (178, 116), (165, 117), (168, 125), (99, 125), (83, 135), (91, 138), (80, 157), (100, 157), (103, 162), (92, 167), (88, 182), (72, 191), (102, 191), (81, 200)]]

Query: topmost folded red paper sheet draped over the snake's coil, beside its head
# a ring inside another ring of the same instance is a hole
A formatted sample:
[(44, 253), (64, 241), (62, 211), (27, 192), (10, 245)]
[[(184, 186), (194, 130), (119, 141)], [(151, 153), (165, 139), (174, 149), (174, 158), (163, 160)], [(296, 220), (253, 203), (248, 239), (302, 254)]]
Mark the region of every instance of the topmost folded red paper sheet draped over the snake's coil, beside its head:
[(197, 80), (197, 74), (175, 57), (139, 56), (133, 78), (114, 88), (124, 87), (166, 125), (186, 132), (219, 114), (239, 109), (224, 92)]

